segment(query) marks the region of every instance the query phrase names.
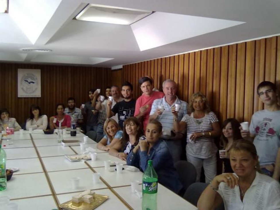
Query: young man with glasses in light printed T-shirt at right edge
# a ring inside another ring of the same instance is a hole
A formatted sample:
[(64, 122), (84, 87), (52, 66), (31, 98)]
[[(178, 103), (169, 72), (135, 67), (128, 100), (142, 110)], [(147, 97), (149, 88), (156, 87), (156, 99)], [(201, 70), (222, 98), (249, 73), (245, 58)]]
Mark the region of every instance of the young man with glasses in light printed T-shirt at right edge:
[(280, 177), (280, 106), (277, 104), (276, 85), (263, 81), (257, 94), (265, 109), (253, 114), (249, 131), (241, 131), (243, 138), (253, 138), (262, 172), (279, 180)]

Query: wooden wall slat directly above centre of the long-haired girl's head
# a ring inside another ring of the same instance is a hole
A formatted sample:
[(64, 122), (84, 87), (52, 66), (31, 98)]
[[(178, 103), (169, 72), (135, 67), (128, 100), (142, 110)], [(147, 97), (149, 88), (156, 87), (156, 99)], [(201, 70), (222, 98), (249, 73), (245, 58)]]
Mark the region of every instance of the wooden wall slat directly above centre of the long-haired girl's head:
[(236, 91), (236, 44), (229, 46), (228, 61), (228, 102), (227, 102), (227, 118), (235, 116), (235, 91)]

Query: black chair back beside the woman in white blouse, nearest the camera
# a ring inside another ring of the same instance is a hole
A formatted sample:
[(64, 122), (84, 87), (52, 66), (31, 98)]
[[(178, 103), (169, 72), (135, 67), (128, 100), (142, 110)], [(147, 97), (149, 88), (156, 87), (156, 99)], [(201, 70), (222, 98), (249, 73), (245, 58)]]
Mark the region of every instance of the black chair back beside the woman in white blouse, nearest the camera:
[[(197, 201), (205, 188), (208, 186), (207, 183), (202, 182), (195, 182), (191, 184), (184, 194), (184, 199), (188, 202), (192, 203), (193, 205), (197, 206)], [(221, 203), (219, 207), (215, 208), (215, 210), (224, 210), (224, 204)]]

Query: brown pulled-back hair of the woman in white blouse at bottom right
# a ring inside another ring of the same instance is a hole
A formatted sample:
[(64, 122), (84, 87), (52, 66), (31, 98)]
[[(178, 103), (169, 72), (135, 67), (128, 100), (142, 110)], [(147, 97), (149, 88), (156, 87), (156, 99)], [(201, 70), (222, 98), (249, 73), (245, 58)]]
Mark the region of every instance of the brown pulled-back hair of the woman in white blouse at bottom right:
[(254, 160), (257, 161), (257, 164), (255, 166), (256, 170), (260, 172), (260, 162), (258, 161), (257, 150), (255, 145), (252, 143), (252, 141), (247, 139), (238, 139), (232, 144), (229, 153), (231, 151), (246, 151), (250, 153), (250, 155), (254, 158)]

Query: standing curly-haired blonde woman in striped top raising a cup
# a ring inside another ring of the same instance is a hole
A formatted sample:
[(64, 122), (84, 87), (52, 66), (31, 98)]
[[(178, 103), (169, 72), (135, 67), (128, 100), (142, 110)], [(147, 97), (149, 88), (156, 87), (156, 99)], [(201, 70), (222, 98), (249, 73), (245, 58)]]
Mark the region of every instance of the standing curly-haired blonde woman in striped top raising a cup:
[(189, 114), (181, 122), (178, 122), (178, 112), (174, 108), (172, 110), (174, 130), (183, 132), (187, 129), (186, 156), (197, 170), (196, 181), (200, 181), (203, 166), (205, 181), (209, 183), (216, 176), (217, 170), (217, 147), (213, 139), (221, 133), (217, 116), (211, 112), (206, 97), (201, 92), (192, 95), (188, 105)]

